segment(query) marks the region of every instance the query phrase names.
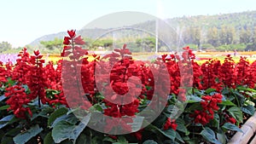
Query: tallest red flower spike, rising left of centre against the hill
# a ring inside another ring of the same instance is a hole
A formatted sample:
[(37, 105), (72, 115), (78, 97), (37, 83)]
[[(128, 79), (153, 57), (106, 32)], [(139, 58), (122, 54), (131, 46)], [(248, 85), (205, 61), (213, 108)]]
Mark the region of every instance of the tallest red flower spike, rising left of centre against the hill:
[[(81, 78), (82, 80), (84, 79), (84, 75), (81, 75), (81, 73), (84, 73), (84, 69), (82, 69), (84, 67), (81, 66), (81, 64), (84, 64), (83, 57), (84, 55), (88, 55), (88, 51), (86, 49), (82, 49), (80, 45), (84, 44), (84, 40), (80, 36), (76, 37), (76, 32), (74, 30), (67, 31), (67, 33), (69, 36), (64, 37), (63, 43), (65, 46), (61, 56), (69, 59), (62, 60), (62, 89), (64, 90), (63, 92), (66, 96), (69, 107), (81, 107), (83, 109), (88, 109), (91, 104), (90, 101), (83, 98), (85, 94), (80, 82)], [(89, 73), (91, 72), (89, 71)]]

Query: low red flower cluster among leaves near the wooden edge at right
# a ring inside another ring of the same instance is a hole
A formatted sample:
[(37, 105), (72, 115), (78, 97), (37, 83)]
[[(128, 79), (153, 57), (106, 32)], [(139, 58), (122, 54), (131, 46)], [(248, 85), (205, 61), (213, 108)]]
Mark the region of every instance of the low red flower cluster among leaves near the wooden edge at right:
[(190, 117), (195, 118), (195, 124), (200, 123), (206, 125), (213, 119), (213, 111), (218, 111), (218, 103), (222, 101), (222, 95), (218, 93), (214, 95), (205, 95), (202, 96), (201, 99), (203, 100), (201, 101), (202, 110), (195, 110), (195, 113), (190, 114)]

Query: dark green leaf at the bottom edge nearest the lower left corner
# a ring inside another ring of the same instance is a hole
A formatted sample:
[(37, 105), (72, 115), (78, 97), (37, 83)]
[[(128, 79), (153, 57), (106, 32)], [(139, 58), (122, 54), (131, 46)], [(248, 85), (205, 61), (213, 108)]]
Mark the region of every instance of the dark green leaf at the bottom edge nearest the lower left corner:
[(14, 137), (15, 144), (25, 144), (27, 141), (32, 139), (32, 137), (38, 135), (41, 131), (43, 131), (42, 128), (39, 128), (39, 125), (34, 125), (30, 128), (30, 130), (27, 130), (24, 133), (20, 133), (19, 135), (16, 135)]

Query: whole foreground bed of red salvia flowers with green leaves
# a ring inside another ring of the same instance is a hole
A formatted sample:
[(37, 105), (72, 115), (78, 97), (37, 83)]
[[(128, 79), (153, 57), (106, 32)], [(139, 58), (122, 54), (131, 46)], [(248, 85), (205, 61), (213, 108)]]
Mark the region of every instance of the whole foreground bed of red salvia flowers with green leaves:
[(75, 31), (63, 43), (56, 68), (26, 49), (0, 63), (1, 143), (227, 143), (255, 111), (245, 57), (199, 65), (186, 47), (149, 62), (124, 45), (88, 60)]

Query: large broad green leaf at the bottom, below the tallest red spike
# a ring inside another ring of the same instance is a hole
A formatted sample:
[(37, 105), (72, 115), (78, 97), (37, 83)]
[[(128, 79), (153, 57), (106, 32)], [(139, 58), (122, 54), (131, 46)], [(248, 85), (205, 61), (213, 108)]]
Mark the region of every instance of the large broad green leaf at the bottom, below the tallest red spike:
[(90, 120), (90, 114), (88, 114), (79, 125), (70, 124), (67, 121), (60, 121), (55, 124), (52, 130), (52, 137), (55, 143), (60, 143), (64, 140), (76, 141), (80, 133), (84, 130)]

